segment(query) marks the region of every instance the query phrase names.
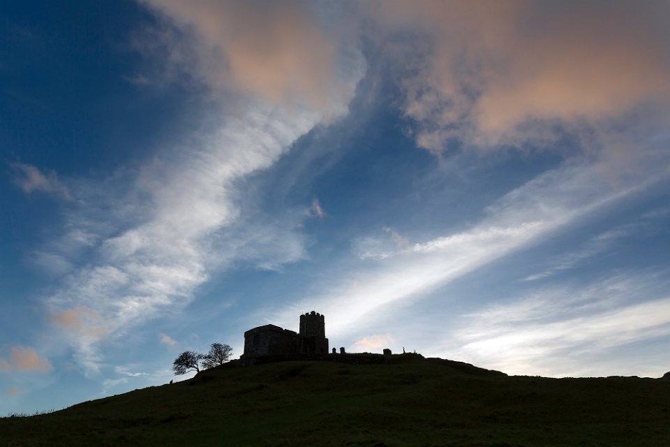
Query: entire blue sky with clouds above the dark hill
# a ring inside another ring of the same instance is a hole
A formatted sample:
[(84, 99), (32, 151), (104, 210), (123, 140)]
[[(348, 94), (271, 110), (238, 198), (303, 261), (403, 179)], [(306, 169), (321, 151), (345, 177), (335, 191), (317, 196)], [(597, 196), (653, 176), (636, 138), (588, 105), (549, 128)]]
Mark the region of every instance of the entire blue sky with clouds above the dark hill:
[(330, 346), (670, 370), (670, 3), (0, 3), (0, 415)]

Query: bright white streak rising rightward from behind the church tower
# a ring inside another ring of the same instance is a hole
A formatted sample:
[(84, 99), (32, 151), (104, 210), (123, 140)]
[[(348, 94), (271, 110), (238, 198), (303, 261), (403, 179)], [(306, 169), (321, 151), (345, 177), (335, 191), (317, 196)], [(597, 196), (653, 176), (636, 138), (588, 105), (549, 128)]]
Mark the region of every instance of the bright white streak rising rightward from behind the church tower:
[[(360, 260), (355, 274), (341, 272), (341, 277), (323, 284), (323, 293), (288, 306), (277, 320), (290, 324), (296, 312), (311, 307), (329, 316), (333, 337), (352, 335), (358, 321), (365, 319), (369, 324), (385, 307), (419, 300), (664, 178), (667, 175), (614, 185), (606, 175), (594, 175), (593, 166), (566, 163), (496, 200), (486, 217), (466, 230), (377, 256), (361, 256), (361, 245), (356, 245)], [(354, 288), (350, 286), (352, 276), (357, 279)]]

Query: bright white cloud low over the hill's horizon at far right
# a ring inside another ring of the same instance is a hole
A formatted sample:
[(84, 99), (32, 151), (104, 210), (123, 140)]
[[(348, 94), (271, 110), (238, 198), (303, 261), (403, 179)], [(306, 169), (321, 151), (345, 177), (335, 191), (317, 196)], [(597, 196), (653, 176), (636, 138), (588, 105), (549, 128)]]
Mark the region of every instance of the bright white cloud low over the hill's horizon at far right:
[(442, 335), (451, 340), (442, 349), (510, 374), (653, 376), (659, 372), (648, 365), (636, 371), (625, 358), (606, 366), (597, 360), (626, 344), (670, 336), (670, 298), (659, 279), (632, 274), (581, 288), (541, 288), (461, 317)]

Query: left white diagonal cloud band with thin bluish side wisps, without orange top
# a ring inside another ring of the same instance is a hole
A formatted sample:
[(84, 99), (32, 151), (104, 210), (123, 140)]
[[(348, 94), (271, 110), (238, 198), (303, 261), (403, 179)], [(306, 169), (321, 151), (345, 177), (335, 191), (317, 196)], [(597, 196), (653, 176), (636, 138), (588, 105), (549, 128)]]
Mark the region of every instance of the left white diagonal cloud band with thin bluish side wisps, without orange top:
[[(276, 269), (305, 256), (295, 233), (299, 212), (286, 222), (243, 214), (241, 200), (255, 198), (243, 193), (240, 180), (272, 166), (328, 114), (251, 99), (237, 113), (163, 149), (135, 175), (77, 182), (68, 233), (50, 244), (50, 254), (73, 268), (46, 304), (51, 314), (89, 309), (105, 321), (98, 334), (90, 325), (66, 328), (75, 360), (87, 371), (98, 371), (101, 342), (183, 309), (211, 272), (237, 262)], [(83, 246), (92, 258), (79, 257)]]

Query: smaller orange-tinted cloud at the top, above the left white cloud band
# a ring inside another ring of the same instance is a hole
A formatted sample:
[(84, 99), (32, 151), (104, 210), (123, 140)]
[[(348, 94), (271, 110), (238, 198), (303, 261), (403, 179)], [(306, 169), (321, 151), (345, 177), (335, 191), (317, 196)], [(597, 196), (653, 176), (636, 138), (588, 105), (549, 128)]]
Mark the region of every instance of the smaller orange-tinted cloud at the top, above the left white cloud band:
[(170, 51), (173, 59), (195, 64), (197, 75), (210, 86), (319, 107), (340, 87), (336, 48), (304, 4), (145, 1), (182, 31), (195, 33), (191, 46), (174, 45)]

